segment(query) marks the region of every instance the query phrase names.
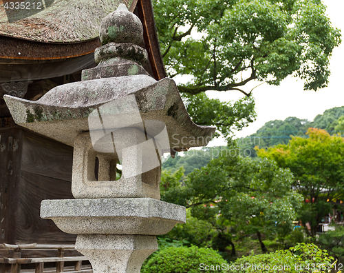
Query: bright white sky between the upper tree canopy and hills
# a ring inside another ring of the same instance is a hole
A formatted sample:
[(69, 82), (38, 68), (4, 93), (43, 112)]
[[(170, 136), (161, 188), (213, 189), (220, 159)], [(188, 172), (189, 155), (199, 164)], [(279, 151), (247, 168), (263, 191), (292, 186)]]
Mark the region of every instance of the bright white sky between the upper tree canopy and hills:
[[(332, 26), (342, 30), (344, 40), (344, 1), (323, 0), (327, 6), (327, 15), (332, 21)], [(297, 78), (289, 77), (279, 86), (263, 85), (255, 88), (252, 94), (256, 101), (257, 120), (250, 123), (235, 134), (236, 137), (248, 136), (255, 133), (266, 122), (287, 117), (298, 117), (312, 121), (317, 114), (323, 114), (327, 109), (344, 105), (344, 41), (338, 48), (334, 48), (330, 60), (331, 76), (327, 88), (314, 91), (303, 91), (303, 82)], [(253, 84), (254, 87), (256, 84)], [(245, 87), (250, 90), (252, 87)], [(241, 97), (238, 91), (206, 92), (209, 97), (219, 98), (222, 101), (235, 101)], [(208, 146), (226, 145), (221, 139), (215, 139)]]

